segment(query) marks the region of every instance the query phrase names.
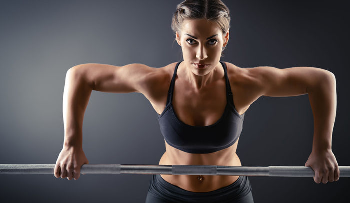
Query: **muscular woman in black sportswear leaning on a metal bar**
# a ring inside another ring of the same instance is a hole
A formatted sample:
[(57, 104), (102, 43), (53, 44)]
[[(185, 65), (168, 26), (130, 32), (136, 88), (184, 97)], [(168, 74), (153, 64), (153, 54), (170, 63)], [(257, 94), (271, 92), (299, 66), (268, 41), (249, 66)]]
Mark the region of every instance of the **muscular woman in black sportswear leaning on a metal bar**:
[[(308, 94), (314, 115), (312, 152), (305, 163), (316, 183), (339, 179), (331, 150), (335, 121), (335, 76), (313, 67), (240, 68), (220, 61), (229, 39), (229, 10), (220, 0), (185, 0), (172, 29), (183, 61), (161, 68), (143, 64), (80, 64), (66, 75), (64, 145), (55, 176), (78, 179), (88, 163), (82, 150), (83, 115), (92, 90), (140, 92), (158, 113), (166, 151), (159, 164), (241, 166), (236, 154), (244, 112), (260, 96)], [(312, 77), (310, 77), (312, 76)], [(252, 203), (246, 176), (153, 175), (148, 203)]]

